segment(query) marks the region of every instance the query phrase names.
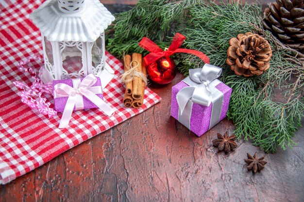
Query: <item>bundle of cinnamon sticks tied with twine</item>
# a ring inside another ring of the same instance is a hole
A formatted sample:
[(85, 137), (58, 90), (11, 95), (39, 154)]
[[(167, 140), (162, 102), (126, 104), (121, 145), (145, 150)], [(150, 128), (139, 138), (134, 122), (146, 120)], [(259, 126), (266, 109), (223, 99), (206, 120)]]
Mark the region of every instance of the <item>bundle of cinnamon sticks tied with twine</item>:
[(126, 84), (123, 104), (126, 107), (140, 108), (144, 101), (147, 85), (147, 68), (140, 53), (124, 56), (124, 71), (121, 80)]

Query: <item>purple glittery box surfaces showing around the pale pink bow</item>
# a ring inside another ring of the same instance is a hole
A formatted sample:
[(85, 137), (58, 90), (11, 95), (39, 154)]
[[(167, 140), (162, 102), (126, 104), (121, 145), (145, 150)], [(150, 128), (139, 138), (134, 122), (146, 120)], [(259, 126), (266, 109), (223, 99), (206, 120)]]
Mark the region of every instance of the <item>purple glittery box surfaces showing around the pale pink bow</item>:
[[(83, 80), (83, 78), (81, 78), (81, 80)], [(58, 83), (64, 83), (64, 84), (67, 84), (67, 85), (73, 87), (73, 81), (72, 81), (72, 79), (53, 80), (53, 88)], [(96, 81), (96, 83), (93, 86), (101, 86), (101, 80), (100, 80), (100, 78), (97, 77), (97, 81)], [(103, 100), (102, 93), (96, 94), (96, 95)], [(92, 103), (85, 96), (83, 96), (83, 100), (84, 100), (84, 109), (98, 108), (94, 103)], [(67, 101), (68, 101), (68, 97), (54, 98), (54, 105), (55, 105), (56, 111), (59, 111), (59, 112), (64, 111)], [(74, 110), (75, 110), (75, 107), (74, 107)]]

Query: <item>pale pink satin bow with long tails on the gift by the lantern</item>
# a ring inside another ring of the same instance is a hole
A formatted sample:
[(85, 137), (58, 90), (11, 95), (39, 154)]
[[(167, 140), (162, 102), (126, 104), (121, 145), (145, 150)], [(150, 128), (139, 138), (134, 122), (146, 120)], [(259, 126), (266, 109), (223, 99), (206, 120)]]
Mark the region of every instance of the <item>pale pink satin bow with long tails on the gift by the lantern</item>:
[(97, 81), (93, 74), (89, 74), (82, 81), (80, 78), (72, 79), (72, 81), (73, 87), (64, 83), (58, 83), (54, 86), (54, 98), (68, 97), (59, 128), (68, 126), (74, 107), (76, 110), (84, 109), (83, 96), (99, 107), (107, 116), (111, 116), (114, 113), (114, 109), (96, 95), (102, 93), (102, 88), (101, 86), (92, 87)]

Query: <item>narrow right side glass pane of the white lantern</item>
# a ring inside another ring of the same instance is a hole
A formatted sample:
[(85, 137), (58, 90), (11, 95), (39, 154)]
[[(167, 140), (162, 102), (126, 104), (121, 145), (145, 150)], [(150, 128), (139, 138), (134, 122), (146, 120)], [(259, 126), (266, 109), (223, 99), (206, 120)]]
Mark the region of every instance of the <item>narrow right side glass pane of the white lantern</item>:
[(103, 45), (103, 35), (102, 35), (93, 43), (93, 47), (92, 47), (92, 65), (95, 68), (103, 63), (103, 59), (104, 59), (103, 46), (104, 45)]

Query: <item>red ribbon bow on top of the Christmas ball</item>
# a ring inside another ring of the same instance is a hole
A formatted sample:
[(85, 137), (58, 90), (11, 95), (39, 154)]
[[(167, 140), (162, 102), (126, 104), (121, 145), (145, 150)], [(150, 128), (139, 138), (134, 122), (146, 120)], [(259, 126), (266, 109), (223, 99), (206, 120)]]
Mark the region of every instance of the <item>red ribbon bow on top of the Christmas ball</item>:
[(161, 57), (170, 56), (173, 55), (174, 53), (189, 53), (192, 55), (196, 55), (197, 57), (201, 58), (203, 62), (209, 64), (210, 59), (202, 52), (198, 50), (179, 48), (184, 43), (185, 39), (186, 37), (183, 34), (176, 33), (175, 36), (173, 37), (173, 41), (170, 47), (165, 51), (163, 51), (159, 46), (157, 46), (154, 42), (152, 42), (147, 37), (141, 39), (141, 41), (139, 42), (139, 46), (151, 52), (144, 57), (144, 60), (147, 65), (157, 61)]

